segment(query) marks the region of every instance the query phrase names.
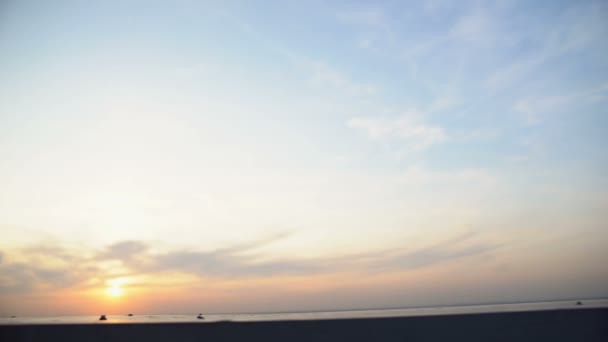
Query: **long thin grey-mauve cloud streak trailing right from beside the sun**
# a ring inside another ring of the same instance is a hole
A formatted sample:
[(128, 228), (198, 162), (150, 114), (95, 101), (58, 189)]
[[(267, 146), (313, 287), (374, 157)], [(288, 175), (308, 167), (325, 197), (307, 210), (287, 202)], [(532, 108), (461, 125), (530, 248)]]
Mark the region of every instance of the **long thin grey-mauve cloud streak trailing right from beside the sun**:
[(403, 270), (432, 266), (440, 262), (490, 253), (500, 247), (497, 244), (475, 242), (480, 236), (467, 232), (447, 241), (416, 250), (384, 249), (354, 255), (317, 259), (281, 259), (256, 262), (251, 256), (232, 248), (211, 252), (171, 251), (150, 256), (139, 272), (156, 273), (167, 270), (180, 271), (199, 277), (239, 279), (304, 275), (314, 276), (337, 271), (369, 272), (378, 269)]

